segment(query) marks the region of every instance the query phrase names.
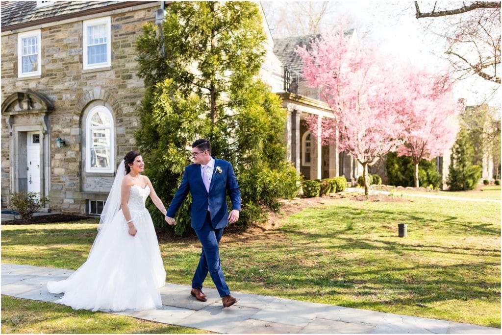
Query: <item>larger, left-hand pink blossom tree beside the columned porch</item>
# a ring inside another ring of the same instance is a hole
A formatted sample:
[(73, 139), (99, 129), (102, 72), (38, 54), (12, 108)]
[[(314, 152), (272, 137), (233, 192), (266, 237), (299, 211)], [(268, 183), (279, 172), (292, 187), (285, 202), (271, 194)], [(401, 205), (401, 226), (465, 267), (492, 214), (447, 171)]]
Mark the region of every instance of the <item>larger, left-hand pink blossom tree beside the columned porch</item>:
[(339, 150), (357, 159), (368, 195), (368, 166), (403, 142), (400, 118), (406, 99), (390, 58), (359, 50), (356, 38), (342, 31), (324, 34), (309, 48), (297, 49), (305, 79), (320, 89), (334, 116), (322, 119), (320, 134), (315, 116), (306, 123), (314, 137), (321, 136), (324, 144), (337, 138)]

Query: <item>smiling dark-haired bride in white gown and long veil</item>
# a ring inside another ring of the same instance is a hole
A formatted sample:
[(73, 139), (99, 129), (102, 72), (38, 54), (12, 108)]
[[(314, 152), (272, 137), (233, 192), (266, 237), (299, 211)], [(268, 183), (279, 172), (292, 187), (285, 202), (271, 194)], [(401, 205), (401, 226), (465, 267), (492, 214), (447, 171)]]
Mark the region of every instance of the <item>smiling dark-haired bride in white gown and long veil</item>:
[(118, 166), (86, 262), (68, 279), (47, 283), (49, 292), (64, 293), (55, 302), (93, 311), (162, 306), (166, 271), (145, 201), (150, 196), (164, 215), (166, 208), (141, 175), (144, 167), (139, 151), (128, 152)]

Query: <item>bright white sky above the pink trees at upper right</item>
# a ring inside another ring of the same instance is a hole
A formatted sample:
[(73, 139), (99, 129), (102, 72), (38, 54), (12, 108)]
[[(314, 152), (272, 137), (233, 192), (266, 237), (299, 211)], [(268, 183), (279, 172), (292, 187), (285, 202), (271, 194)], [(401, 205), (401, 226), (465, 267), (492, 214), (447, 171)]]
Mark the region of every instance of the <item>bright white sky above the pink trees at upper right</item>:
[[(295, 3), (280, 4), (276, 6), (294, 6)], [(437, 69), (448, 66), (448, 61), (443, 57), (445, 48), (441, 45), (442, 42), (424, 30), (426, 20), (415, 18), (413, 1), (337, 1), (330, 5), (323, 28), (347, 15), (363, 41), (374, 42), (383, 51), (410, 59), (412, 64)], [(488, 103), (499, 106), (499, 94), (492, 94), (494, 87), (496, 86), (478, 76), (471, 76), (455, 83), (454, 94), (456, 99), (466, 99), (468, 105), (482, 103), (489, 96)]]

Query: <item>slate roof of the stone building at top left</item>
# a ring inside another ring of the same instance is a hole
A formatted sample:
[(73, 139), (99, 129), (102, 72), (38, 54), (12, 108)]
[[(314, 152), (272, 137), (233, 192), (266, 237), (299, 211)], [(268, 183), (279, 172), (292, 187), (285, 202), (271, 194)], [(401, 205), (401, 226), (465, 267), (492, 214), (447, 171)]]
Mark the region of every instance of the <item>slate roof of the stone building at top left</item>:
[(36, 1), (2, 1), (2, 31), (64, 20), (70, 17), (132, 7), (138, 1), (56, 1), (37, 8)]

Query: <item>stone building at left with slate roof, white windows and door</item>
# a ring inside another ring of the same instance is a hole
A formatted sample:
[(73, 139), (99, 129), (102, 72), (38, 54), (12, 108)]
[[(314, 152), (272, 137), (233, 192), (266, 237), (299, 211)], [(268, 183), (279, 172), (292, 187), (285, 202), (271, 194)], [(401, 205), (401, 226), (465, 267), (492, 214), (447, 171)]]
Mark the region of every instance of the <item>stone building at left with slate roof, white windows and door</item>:
[(2, 207), (100, 213), (136, 148), (143, 97), (134, 42), (161, 2), (2, 2)]

